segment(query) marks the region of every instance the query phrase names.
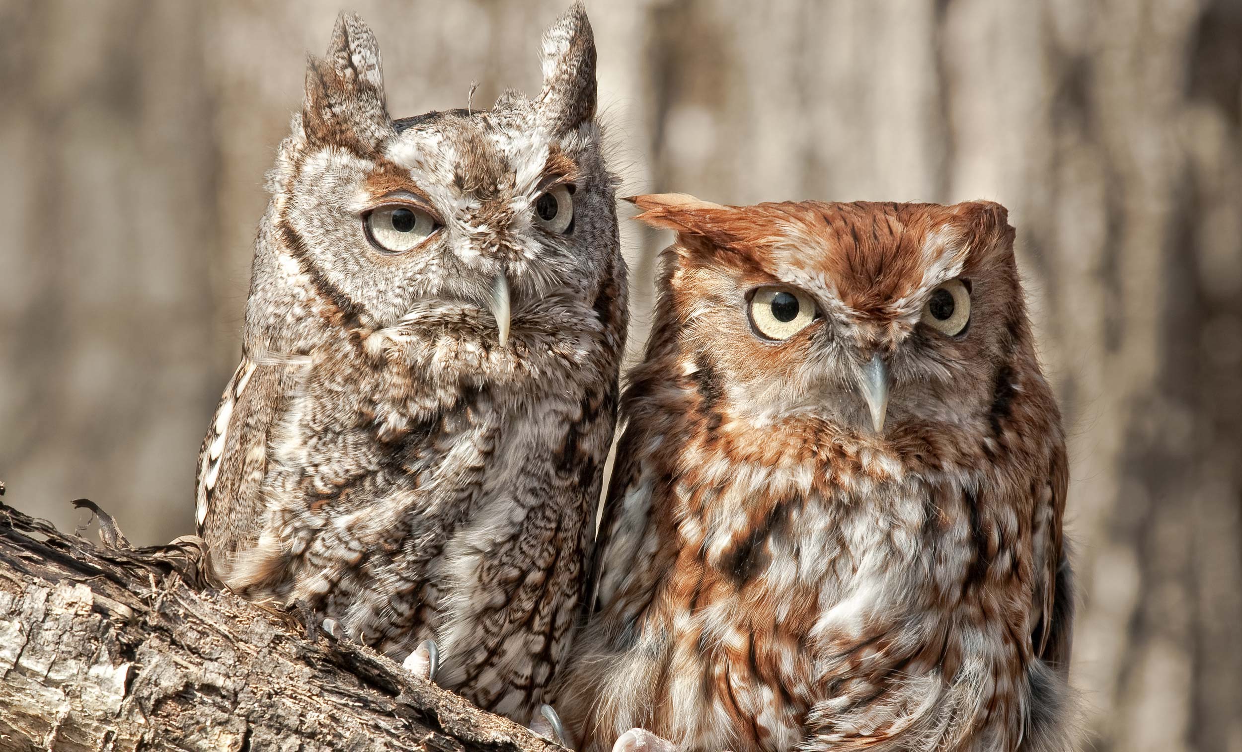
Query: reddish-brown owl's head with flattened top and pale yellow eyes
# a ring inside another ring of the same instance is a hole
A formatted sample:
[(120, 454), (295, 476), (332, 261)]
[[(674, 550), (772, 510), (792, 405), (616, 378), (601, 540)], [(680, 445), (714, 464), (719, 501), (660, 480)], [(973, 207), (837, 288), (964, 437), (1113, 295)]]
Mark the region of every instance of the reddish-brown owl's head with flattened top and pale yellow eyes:
[(1031, 349), (997, 204), (632, 201), (677, 232), (652, 355), (730, 417), (861, 436), (980, 419)]

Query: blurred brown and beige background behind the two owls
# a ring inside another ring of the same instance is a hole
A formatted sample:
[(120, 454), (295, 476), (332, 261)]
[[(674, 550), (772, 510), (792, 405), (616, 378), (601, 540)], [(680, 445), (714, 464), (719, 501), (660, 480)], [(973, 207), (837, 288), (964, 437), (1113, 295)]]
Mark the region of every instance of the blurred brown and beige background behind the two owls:
[[(0, 0), (0, 479), (193, 529), (263, 171), (342, 0)], [(394, 117), (538, 88), (568, 0), (351, 0)], [(589, 2), (612, 165), (713, 201), (991, 199), (1072, 434), (1095, 750), (1242, 751), (1242, 2)], [(645, 339), (653, 253), (627, 227)]]

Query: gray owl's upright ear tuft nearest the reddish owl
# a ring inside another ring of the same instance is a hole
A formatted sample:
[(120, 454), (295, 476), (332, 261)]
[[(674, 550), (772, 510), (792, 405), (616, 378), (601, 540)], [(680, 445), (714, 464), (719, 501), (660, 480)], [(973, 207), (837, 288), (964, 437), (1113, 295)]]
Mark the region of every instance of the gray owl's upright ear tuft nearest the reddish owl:
[(595, 35), (581, 0), (544, 32), (539, 51), (543, 91), (535, 107), (560, 135), (595, 117)]

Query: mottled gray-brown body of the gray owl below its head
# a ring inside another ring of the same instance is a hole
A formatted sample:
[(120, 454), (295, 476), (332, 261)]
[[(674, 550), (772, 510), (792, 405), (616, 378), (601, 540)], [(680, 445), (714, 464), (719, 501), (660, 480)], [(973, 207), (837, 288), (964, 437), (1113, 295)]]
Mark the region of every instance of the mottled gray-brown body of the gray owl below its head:
[[(200, 459), (200, 530), (226, 581), (304, 601), (397, 658), (433, 637), (442, 685), (532, 712), (581, 602), (616, 419), (619, 305), (606, 333), (559, 331), (538, 354), (510, 344), (497, 357), (520, 362), (494, 375), (468, 360), (486, 352), (441, 347), (428, 366), (448, 362), (424, 378), (394, 360), (404, 352), (343, 352), (356, 338), (245, 360)], [(446, 382), (455, 369), (473, 369), (472, 383)]]

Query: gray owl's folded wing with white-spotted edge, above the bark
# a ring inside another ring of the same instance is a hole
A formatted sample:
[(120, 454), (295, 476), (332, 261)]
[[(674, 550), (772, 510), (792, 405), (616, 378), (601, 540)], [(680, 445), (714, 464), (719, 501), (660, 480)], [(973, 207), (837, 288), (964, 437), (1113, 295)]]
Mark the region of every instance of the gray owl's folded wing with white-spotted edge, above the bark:
[(283, 402), (284, 370), (243, 357), (202, 439), (195, 524), (217, 565), (258, 536), (258, 489), (267, 470), (268, 431)]

